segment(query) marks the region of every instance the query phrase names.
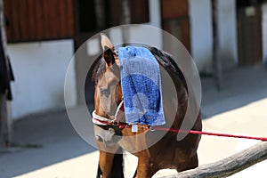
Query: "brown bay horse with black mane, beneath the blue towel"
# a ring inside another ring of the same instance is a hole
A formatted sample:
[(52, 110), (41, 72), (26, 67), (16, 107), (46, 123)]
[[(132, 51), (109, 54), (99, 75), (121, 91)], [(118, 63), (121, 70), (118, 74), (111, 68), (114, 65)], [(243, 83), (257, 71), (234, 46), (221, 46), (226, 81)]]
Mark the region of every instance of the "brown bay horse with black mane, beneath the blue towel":
[[(114, 45), (104, 34), (101, 34), (101, 46), (103, 53), (94, 62), (92, 74), (95, 83), (93, 129), (100, 151), (97, 177), (124, 177), (122, 150), (129, 151), (138, 158), (134, 177), (149, 178), (164, 168), (182, 172), (197, 167), (200, 135), (187, 134), (181, 141), (177, 141), (177, 133), (166, 131), (159, 134), (161, 131), (153, 132), (150, 125), (137, 125), (136, 132), (133, 132), (132, 125), (118, 125), (125, 121), (124, 116), (116, 116), (117, 111), (123, 108), (121, 103), (124, 100), (120, 84), (120, 63)], [(166, 125), (179, 129), (189, 100), (185, 77), (170, 54), (156, 47), (146, 47), (173, 81), (174, 96), (166, 96), (163, 105)], [(192, 129), (202, 130), (200, 110)], [(157, 142), (152, 141), (150, 144), (150, 138), (154, 137), (158, 138)]]

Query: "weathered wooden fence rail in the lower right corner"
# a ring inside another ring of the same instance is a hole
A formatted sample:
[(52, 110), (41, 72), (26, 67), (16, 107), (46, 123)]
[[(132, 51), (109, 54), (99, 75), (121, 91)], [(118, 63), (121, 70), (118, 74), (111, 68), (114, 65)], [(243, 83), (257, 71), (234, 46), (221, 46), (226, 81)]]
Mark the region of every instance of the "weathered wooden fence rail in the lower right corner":
[(162, 178), (222, 178), (230, 176), (231, 174), (236, 174), (265, 159), (267, 159), (267, 142), (260, 142), (229, 158), (223, 158), (214, 163), (198, 166), (196, 169), (184, 171), (179, 174), (163, 175)]

